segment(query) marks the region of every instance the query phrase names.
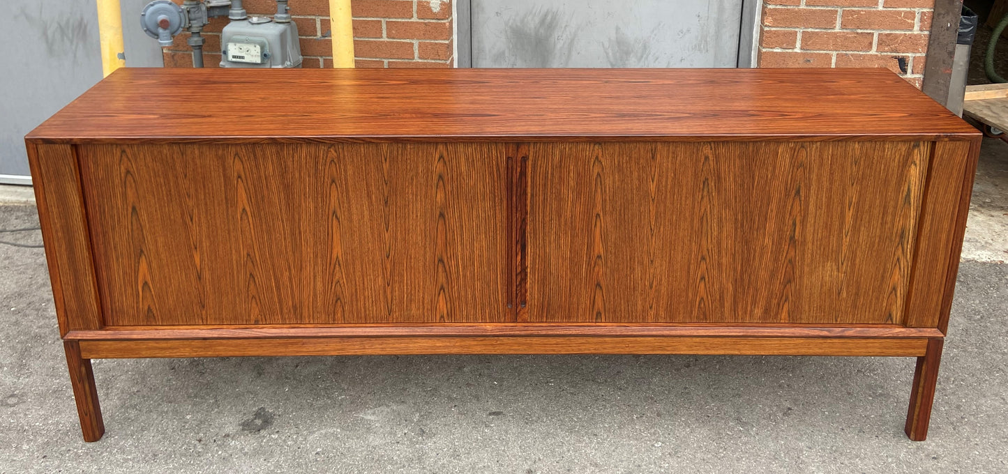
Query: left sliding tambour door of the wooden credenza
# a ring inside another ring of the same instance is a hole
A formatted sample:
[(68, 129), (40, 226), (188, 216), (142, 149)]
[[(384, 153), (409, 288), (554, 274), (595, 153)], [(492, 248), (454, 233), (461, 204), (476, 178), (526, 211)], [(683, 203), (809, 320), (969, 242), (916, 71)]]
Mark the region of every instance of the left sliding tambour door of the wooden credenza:
[(512, 320), (505, 150), (83, 146), (105, 321)]

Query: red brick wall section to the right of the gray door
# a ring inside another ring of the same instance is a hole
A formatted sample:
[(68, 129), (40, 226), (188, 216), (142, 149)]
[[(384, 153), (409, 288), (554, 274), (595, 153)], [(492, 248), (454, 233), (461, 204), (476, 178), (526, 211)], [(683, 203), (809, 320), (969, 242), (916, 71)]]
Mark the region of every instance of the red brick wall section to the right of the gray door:
[(761, 67), (888, 67), (917, 88), (934, 0), (764, 0)]

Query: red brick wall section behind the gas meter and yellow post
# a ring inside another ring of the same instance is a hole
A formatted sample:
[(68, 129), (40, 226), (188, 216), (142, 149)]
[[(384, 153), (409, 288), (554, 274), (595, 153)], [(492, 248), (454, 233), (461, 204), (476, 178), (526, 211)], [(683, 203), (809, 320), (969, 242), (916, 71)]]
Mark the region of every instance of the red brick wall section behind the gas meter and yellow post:
[[(289, 5), (300, 35), (302, 66), (332, 67), (329, 0), (294, 0)], [(245, 0), (244, 7), (249, 15), (276, 12), (273, 0)], [(455, 64), (452, 7), (451, 0), (352, 0), (357, 66), (451, 67)], [(227, 24), (227, 17), (214, 18), (204, 33), (207, 67), (221, 62), (221, 29)], [(164, 48), (166, 67), (193, 66), (187, 38), (188, 33), (182, 32)]]

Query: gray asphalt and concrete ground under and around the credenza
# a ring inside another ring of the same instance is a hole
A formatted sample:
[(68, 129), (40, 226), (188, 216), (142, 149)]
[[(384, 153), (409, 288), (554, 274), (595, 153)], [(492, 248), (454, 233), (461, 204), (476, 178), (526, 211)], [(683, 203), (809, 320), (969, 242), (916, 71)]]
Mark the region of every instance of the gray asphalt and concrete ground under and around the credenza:
[(1008, 472), (1008, 145), (983, 155), (926, 442), (910, 358), (369, 356), (96, 360), (84, 443), (37, 216), (7, 204), (0, 472)]

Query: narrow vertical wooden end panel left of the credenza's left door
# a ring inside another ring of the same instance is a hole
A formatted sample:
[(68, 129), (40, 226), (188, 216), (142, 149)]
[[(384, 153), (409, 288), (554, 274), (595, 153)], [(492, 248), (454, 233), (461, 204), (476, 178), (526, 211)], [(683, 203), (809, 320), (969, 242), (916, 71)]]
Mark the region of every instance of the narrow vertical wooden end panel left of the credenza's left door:
[(59, 335), (98, 329), (102, 314), (77, 154), (70, 145), (27, 149)]

